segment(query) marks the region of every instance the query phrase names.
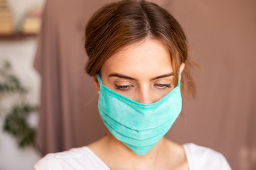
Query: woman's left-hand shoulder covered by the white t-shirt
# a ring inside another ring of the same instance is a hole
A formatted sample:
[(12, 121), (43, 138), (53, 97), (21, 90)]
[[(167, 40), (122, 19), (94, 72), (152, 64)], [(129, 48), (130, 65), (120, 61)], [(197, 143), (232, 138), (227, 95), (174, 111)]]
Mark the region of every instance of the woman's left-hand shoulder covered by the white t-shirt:
[(47, 154), (33, 169), (108, 169), (107, 166), (88, 148), (73, 148), (65, 152)]

